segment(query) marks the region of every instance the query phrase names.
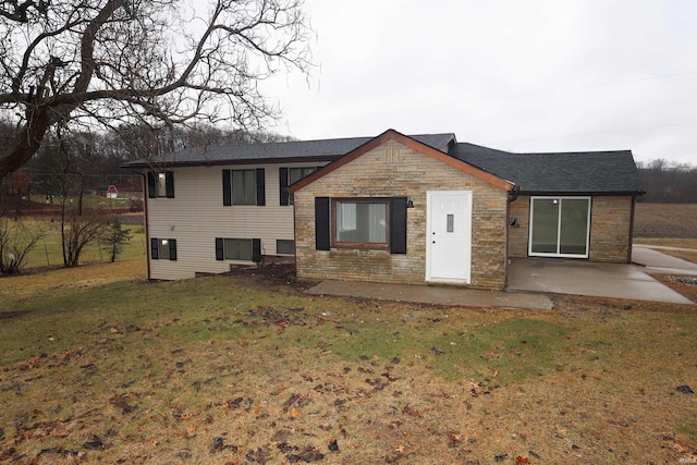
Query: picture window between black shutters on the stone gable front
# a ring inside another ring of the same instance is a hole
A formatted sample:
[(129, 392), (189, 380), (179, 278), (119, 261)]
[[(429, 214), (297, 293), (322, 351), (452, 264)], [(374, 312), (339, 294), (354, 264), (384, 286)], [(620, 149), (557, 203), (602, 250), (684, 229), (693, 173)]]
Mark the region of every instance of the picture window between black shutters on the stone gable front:
[(389, 199), (334, 199), (334, 245), (384, 248), (389, 245)]

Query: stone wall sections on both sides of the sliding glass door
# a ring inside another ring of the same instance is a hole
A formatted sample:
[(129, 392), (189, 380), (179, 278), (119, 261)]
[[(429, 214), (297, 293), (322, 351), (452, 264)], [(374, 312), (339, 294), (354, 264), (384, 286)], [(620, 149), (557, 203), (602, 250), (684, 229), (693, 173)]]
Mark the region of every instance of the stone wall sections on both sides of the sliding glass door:
[[(510, 218), (518, 228), (509, 227), (509, 256), (527, 257), (530, 197), (519, 196), (510, 206)], [(632, 225), (631, 196), (597, 196), (590, 199), (591, 261), (626, 262), (629, 260)]]

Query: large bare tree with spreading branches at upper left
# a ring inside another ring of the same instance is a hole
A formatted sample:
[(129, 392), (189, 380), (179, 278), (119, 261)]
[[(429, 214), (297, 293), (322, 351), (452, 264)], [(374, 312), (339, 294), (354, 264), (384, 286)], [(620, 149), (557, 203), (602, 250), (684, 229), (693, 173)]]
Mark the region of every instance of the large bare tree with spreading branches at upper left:
[[(0, 3), (0, 108), (16, 114), (0, 179), (57, 123), (113, 129), (277, 117), (258, 84), (307, 72), (302, 0), (8, 0)], [(201, 15), (205, 14), (205, 17)]]

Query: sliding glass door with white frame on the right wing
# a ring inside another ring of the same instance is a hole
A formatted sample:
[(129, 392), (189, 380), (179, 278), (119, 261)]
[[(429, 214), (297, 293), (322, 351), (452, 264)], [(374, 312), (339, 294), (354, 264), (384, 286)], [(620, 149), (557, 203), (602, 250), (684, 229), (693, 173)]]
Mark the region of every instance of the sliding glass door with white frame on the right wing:
[(530, 256), (588, 258), (590, 197), (531, 197)]

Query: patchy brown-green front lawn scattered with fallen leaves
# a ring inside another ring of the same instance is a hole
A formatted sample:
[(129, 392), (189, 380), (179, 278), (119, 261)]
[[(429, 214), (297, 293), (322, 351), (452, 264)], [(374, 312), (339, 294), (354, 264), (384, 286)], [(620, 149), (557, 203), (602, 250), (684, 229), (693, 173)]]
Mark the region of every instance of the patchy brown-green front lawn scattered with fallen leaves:
[(0, 311), (2, 461), (697, 456), (697, 395), (677, 390), (696, 388), (692, 306), (432, 307), (230, 276), (25, 283), (33, 291), (3, 294)]

